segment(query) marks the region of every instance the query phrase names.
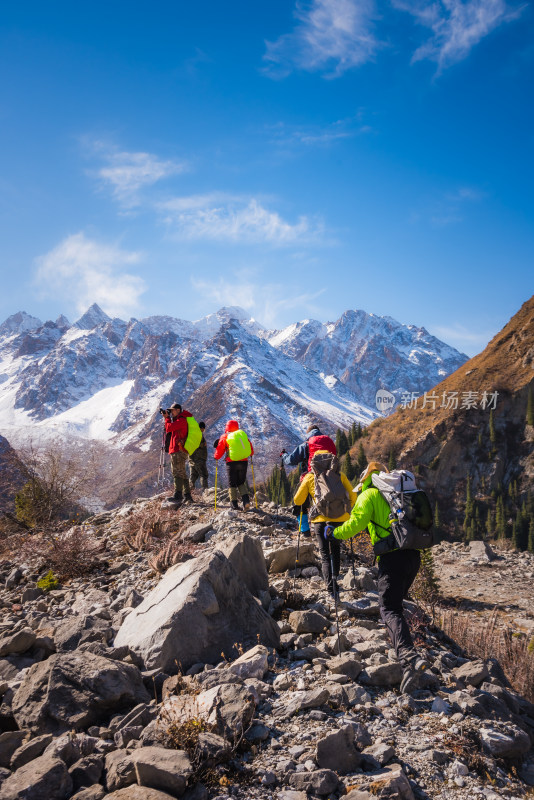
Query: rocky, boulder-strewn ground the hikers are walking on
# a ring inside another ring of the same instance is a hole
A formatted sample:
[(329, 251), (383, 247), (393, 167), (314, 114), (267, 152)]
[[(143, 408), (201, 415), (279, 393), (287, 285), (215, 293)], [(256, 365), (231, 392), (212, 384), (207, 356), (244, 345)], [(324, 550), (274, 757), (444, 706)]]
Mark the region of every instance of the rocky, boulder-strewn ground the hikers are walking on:
[[(90, 518), (97, 568), (47, 592), (31, 546), (0, 564), (3, 800), (534, 796), (534, 705), (496, 660), (408, 603), (432, 670), (400, 694), (372, 567), (342, 565), (338, 639), (309, 539), (294, 573), (287, 509), (212, 501), (166, 530), (158, 499)], [(445, 593), (530, 619), (532, 563), (509, 587), (508, 554), (464, 550), (436, 548)]]

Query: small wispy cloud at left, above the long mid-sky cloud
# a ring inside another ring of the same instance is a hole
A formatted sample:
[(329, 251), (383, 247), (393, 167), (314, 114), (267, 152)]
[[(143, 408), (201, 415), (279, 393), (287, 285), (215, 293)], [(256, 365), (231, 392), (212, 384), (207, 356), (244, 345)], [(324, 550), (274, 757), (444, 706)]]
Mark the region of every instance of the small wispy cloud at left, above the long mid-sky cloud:
[(185, 161), (164, 161), (152, 153), (130, 153), (103, 142), (94, 142), (92, 149), (104, 162), (104, 166), (96, 170), (98, 179), (111, 188), (124, 208), (139, 205), (141, 189), (187, 169)]

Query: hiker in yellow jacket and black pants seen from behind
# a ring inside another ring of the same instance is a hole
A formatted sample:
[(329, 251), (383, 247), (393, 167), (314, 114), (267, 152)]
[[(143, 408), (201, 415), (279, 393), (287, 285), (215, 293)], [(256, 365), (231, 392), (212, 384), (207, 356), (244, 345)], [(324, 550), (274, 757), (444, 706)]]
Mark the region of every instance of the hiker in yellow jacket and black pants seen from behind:
[[(326, 501), (323, 497), (328, 489), (332, 498)], [(325, 529), (328, 524), (333, 530), (349, 519), (350, 510), (356, 502), (356, 493), (347, 476), (340, 472), (337, 456), (328, 450), (318, 450), (314, 454), (311, 472), (302, 479), (293, 502), (302, 505), (308, 497), (312, 503), (309, 516), (321, 555), (323, 580), (331, 597), (337, 599), (341, 545), (331, 535), (325, 536)]]

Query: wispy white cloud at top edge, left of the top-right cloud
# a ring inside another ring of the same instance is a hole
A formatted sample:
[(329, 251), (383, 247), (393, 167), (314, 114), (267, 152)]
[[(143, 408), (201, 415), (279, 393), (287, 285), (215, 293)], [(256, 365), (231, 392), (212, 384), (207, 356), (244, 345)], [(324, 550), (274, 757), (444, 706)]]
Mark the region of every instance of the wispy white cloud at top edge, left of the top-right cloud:
[(266, 42), (267, 72), (287, 75), (292, 69), (329, 70), (336, 77), (369, 61), (379, 47), (373, 33), (374, 0), (297, 2), (295, 29)]

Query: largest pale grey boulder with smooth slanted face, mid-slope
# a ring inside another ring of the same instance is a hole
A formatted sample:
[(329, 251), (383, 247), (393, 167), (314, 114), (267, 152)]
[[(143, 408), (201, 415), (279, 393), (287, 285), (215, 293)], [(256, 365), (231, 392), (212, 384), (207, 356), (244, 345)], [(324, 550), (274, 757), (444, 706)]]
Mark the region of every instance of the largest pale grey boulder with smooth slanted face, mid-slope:
[(258, 641), (278, 647), (279, 628), (216, 550), (171, 567), (123, 622), (115, 646), (128, 645), (146, 669), (174, 673)]

